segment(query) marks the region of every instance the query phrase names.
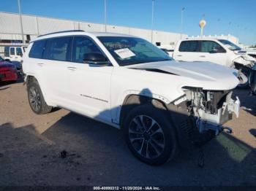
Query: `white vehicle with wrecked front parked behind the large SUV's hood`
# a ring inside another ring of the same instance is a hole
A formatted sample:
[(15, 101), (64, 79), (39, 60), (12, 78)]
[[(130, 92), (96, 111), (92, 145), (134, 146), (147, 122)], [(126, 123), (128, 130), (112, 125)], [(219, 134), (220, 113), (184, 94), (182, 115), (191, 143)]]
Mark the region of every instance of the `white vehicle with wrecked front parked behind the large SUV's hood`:
[(247, 55), (236, 44), (226, 39), (183, 39), (176, 44), (173, 52), (176, 61), (208, 61), (235, 69), (246, 76), (239, 87), (248, 87), (250, 69), (256, 59)]

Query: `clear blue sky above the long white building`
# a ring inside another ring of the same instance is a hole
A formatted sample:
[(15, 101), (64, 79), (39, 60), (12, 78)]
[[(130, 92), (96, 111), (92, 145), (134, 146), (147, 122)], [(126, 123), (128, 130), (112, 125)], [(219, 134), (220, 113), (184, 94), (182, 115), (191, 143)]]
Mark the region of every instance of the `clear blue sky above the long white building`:
[[(20, 0), (24, 14), (104, 23), (104, 0)], [(108, 24), (151, 28), (152, 0), (107, 0)], [(154, 29), (199, 35), (232, 34), (244, 44), (256, 44), (256, 0), (154, 0)], [(0, 0), (0, 11), (18, 12), (17, 0)], [(219, 20), (219, 21), (218, 21)]]

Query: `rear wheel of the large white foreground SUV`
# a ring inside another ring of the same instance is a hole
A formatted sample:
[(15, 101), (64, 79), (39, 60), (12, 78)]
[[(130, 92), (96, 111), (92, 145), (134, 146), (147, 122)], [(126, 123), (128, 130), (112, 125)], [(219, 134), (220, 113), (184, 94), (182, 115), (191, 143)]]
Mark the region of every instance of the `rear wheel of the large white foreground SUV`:
[(37, 81), (30, 82), (28, 85), (29, 105), (36, 114), (47, 114), (53, 108), (48, 106)]

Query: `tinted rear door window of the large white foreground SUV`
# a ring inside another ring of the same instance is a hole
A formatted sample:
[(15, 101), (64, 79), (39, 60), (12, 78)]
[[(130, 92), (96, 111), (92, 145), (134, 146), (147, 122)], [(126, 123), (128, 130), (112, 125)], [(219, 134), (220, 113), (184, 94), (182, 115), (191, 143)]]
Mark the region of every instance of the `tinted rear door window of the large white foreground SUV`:
[(55, 61), (68, 61), (70, 39), (71, 37), (48, 39), (44, 58)]

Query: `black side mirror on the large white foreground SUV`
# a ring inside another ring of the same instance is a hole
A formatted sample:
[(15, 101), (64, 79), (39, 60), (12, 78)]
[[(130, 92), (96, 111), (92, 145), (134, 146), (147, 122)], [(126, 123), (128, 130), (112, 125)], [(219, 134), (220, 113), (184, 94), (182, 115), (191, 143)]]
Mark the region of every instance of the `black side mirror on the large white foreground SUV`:
[(83, 55), (83, 63), (97, 64), (97, 65), (108, 65), (110, 62), (105, 55), (100, 53), (89, 53)]

